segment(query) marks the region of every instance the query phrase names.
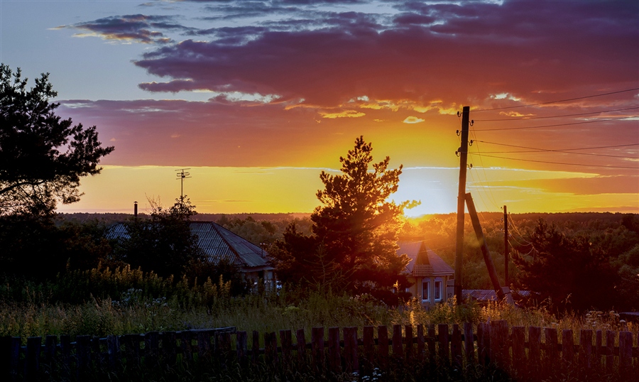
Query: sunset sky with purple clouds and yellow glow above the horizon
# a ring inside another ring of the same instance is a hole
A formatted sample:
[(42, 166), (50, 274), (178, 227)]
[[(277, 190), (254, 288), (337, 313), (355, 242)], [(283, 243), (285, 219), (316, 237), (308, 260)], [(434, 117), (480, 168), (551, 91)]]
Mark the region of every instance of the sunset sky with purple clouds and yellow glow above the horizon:
[(410, 216), (639, 213), (638, 1), (0, 1), (0, 61), (115, 151), (60, 212), (312, 212), (356, 137)]

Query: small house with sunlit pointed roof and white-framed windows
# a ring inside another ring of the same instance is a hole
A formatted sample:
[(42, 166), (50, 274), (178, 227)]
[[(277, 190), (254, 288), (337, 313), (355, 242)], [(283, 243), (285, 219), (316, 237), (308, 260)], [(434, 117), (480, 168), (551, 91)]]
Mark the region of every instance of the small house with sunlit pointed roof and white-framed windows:
[(454, 269), (424, 241), (399, 241), (398, 246), (398, 256), (405, 253), (410, 258), (402, 272), (413, 283), (406, 292), (420, 300), (424, 307), (448, 300), (447, 287), (454, 278)]

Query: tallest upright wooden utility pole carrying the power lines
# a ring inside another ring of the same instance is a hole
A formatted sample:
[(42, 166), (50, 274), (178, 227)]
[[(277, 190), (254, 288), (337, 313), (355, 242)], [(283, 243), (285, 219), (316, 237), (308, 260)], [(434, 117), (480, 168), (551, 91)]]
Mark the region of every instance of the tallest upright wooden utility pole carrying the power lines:
[(457, 241), (455, 243), (455, 298), (457, 304), (464, 301), (461, 295), (463, 285), (461, 285), (461, 267), (464, 255), (464, 205), (466, 197), (466, 166), (468, 165), (468, 128), (469, 128), (470, 107), (465, 106), (461, 112), (461, 146), (457, 149), (459, 153), (459, 192), (457, 193)]

